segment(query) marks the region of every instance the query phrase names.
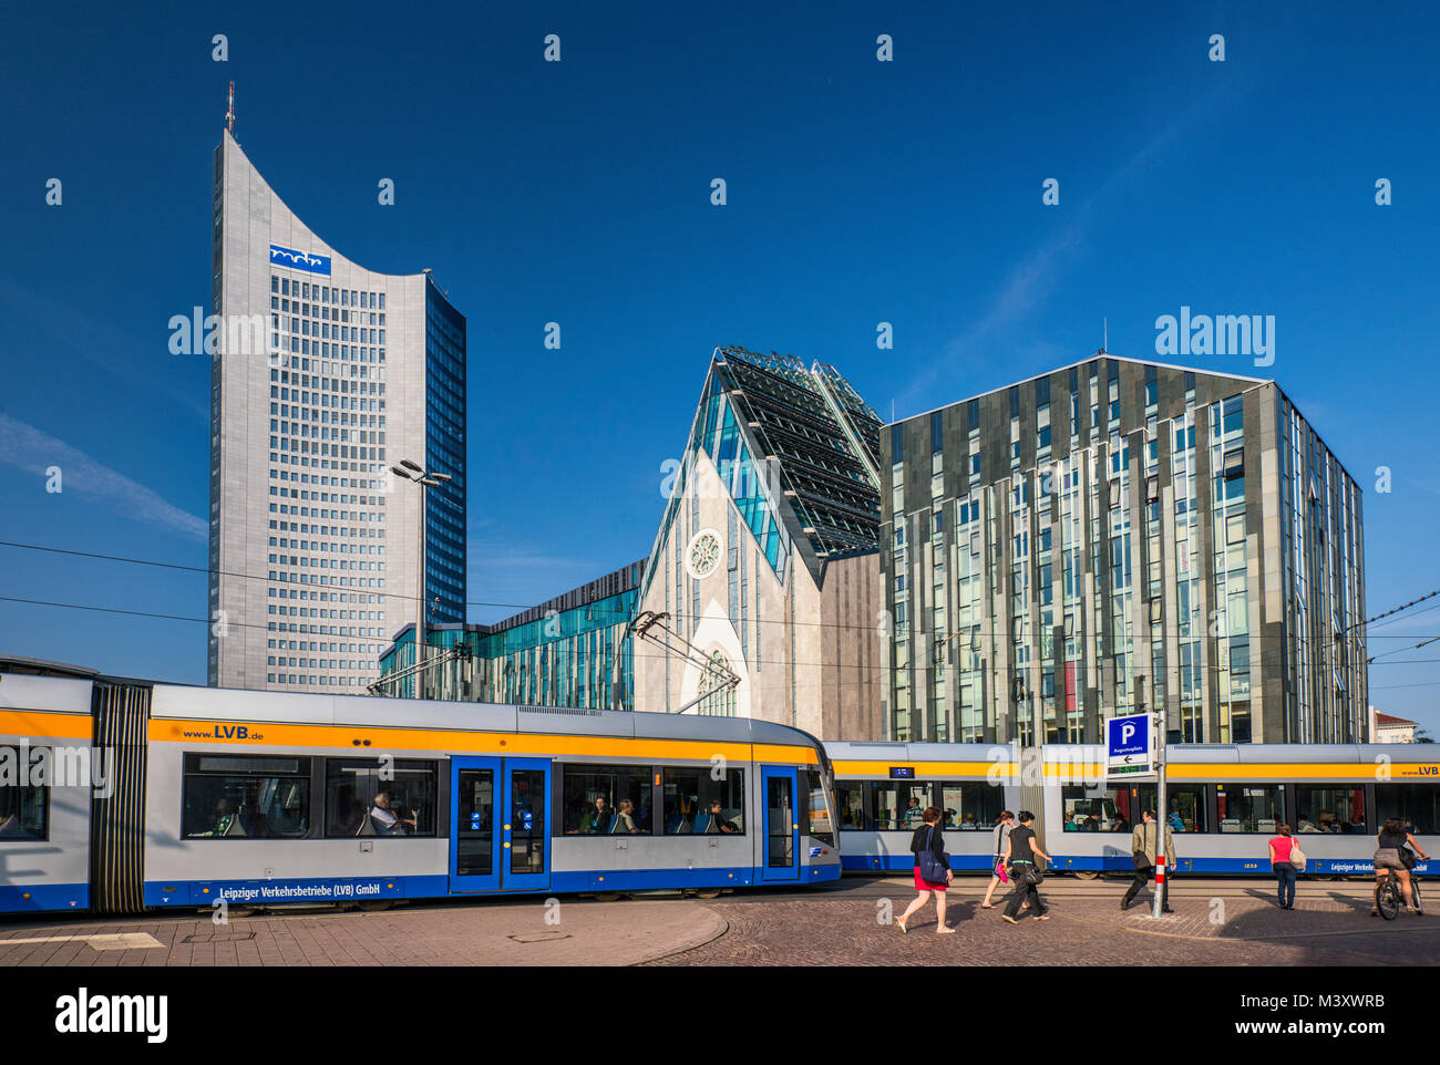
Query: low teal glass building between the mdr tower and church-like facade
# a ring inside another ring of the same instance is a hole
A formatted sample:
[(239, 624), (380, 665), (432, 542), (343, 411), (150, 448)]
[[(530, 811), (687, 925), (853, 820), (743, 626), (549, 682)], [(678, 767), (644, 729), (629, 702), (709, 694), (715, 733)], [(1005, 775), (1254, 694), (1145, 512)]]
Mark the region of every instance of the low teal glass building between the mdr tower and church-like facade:
[[(634, 710), (635, 659), (625, 630), (645, 560), (495, 625), (425, 629), (423, 694), (438, 699), (573, 710)], [(464, 653), (446, 653), (452, 648)], [(413, 622), (380, 655), (379, 694), (415, 697)], [(390, 679), (396, 678), (396, 679)]]

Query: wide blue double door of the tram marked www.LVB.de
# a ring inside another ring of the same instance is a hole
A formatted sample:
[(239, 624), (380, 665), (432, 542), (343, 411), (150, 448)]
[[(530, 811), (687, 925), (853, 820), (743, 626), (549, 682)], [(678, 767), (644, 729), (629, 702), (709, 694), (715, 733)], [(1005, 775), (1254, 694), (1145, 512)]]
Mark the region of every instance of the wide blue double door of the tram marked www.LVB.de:
[(550, 887), (549, 758), (451, 758), (449, 887), (536, 891)]

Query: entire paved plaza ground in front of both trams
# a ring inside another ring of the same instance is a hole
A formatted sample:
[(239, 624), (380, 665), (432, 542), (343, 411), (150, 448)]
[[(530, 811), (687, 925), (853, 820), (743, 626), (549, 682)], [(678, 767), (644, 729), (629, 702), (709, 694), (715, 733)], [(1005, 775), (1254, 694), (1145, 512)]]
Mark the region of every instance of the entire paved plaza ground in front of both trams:
[[(1293, 911), (1259, 881), (1149, 892), (1123, 911), (1128, 881), (1054, 878), (1050, 921), (981, 910), (984, 881), (949, 892), (955, 935), (935, 907), (890, 923), (914, 898), (909, 878), (847, 876), (809, 891), (742, 891), (716, 901), (487, 899), (383, 912), (284, 910), (213, 924), (194, 912), (140, 920), (0, 921), (0, 966), (1354, 966), (1440, 964), (1440, 917), (1369, 915), (1362, 881), (1302, 881)], [(996, 902), (1004, 897), (996, 897)]]

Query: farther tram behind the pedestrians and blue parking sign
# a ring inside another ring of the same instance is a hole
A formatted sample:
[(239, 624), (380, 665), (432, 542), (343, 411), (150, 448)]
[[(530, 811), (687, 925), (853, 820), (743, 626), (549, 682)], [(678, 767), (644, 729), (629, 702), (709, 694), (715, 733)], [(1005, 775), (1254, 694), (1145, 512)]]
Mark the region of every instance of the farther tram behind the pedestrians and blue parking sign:
[[(992, 866), (999, 812), (1028, 809), (1056, 872), (1129, 872), (1130, 833), (1155, 784), (1106, 781), (1104, 748), (1047, 744), (827, 743), (847, 872), (906, 872), (920, 812), (943, 812), (950, 865)], [(1267, 840), (1287, 823), (1306, 874), (1371, 875), (1375, 835), (1404, 820), (1440, 853), (1440, 750), (1427, 744), (1174, 744), (1166, 816), (1175, 872), (1272, 875)], [(1427, 871), (1421, 862), (1418, 869)]]

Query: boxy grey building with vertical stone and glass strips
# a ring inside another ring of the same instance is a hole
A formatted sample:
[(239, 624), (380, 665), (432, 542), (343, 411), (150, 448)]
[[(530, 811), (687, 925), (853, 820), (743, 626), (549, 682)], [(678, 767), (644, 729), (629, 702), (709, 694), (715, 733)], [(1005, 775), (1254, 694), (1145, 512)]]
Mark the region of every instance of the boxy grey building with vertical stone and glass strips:
[(1274, 381), (1100, 351), (881, 463), (891, 738), (1365, 740), (1361, 489)]

